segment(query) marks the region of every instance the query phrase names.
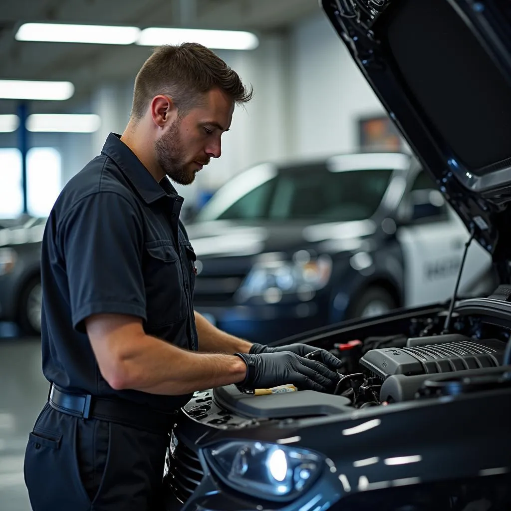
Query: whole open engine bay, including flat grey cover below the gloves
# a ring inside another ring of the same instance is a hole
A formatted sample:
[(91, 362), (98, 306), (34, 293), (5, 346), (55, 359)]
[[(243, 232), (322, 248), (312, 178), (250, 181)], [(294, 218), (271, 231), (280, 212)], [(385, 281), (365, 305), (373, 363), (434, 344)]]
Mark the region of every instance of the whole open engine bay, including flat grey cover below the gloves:
[[(342, 362), (328, 392), (298, 390), (254, 396), (236, 385), (196, 393), (185, 409), (211, 425), (351, 413), (405, 401), (456, 396), (511, 386), (502, 364), (510, 330), (487, 316), (453, 316), (444, 309), (354, 321), (313, 339), (292, 339), (328, 349)], [(375, 331), (384, 335), (374, 335)], [(313, 355), (313, 354), (312, 354)], [(314, 358), (313, 356), (311, 358)]]

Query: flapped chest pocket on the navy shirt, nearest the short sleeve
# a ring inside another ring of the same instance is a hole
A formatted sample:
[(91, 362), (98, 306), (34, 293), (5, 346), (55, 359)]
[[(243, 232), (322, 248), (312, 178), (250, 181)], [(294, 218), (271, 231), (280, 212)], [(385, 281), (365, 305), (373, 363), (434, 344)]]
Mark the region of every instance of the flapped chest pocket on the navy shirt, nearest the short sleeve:
[(143, 267), (148, 324), (162, 326), (186, 317), (183, 273), (172, 243), (165, 240), (147, 242)]

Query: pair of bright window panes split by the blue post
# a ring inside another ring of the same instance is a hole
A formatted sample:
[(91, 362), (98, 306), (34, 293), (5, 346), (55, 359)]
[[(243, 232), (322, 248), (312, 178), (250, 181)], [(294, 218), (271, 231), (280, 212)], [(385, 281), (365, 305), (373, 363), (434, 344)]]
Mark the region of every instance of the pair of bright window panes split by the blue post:
[[(34, 147), (27, 153), (27, 209), (35, 217), (48, 216), (61, 190), (60, 153)], [(23, 211), (21, 153), (0, 149), (0, 218), (16, 218)]]

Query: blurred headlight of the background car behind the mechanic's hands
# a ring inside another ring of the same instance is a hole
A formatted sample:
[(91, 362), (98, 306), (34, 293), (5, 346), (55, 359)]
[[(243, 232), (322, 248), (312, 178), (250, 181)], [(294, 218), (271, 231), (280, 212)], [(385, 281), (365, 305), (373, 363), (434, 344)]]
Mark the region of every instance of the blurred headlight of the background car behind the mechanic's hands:
[(256, 263), (237, 298), (244, 301), (251, 296), (262, 296), (267, 303), (277, 303), (283, 294), (296, 294), (303, 301), (311, 300), (318, 289), (328, 284), (331, 274), (329, 255), (312, 257), (307, 250), (299, 250), (291, 261), (276, 258)]

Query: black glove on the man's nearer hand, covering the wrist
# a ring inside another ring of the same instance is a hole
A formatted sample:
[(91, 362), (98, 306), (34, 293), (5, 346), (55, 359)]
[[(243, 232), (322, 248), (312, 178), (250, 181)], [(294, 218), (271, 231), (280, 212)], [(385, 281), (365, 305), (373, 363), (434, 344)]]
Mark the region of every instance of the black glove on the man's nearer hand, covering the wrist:
[[(328, 352), (327, 352), (328, 353)], [(270, 388), (292, 383), (298, 390), (331, 389), (339, 381), (326, 365), (295, 353), (235, 353), (247, 364), (247, 376), (238, 384), (244, 388)]]

